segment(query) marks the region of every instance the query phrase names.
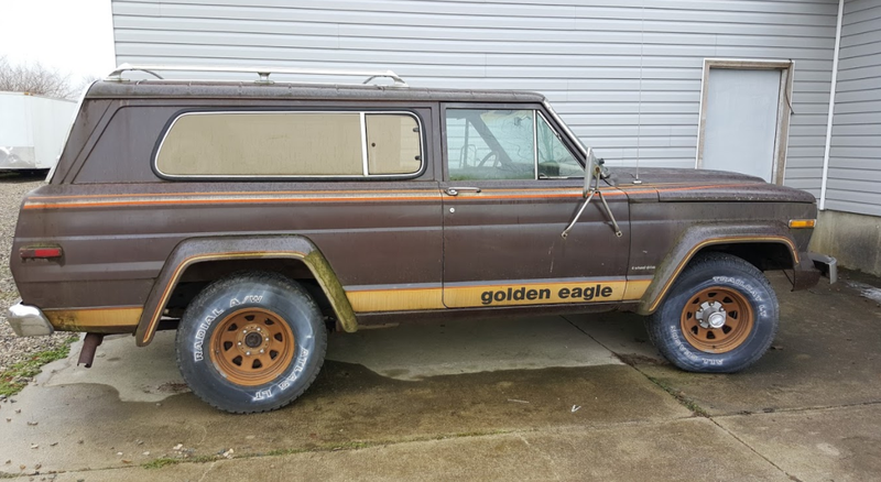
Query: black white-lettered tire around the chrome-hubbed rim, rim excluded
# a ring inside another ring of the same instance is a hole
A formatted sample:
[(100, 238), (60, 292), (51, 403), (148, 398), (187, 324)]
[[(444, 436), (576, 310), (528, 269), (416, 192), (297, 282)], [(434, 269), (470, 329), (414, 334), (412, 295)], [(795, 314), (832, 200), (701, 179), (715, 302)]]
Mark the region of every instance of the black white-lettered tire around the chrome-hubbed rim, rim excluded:
[[(682, 331), (685, 305), (703, 289), (724, 287), (739, 292), (752, 307), (751, 332), (737, 348), (708, 353), (690, 344)], [(654, 346), (674, 365), (689, 372), (732, 373), (758, 361), (774, 341), (779, 326), (779, 305), (771, 284), (748, 262), (713, 253), (696, 259), (683, 272), (667, 299), (648, 321)]]

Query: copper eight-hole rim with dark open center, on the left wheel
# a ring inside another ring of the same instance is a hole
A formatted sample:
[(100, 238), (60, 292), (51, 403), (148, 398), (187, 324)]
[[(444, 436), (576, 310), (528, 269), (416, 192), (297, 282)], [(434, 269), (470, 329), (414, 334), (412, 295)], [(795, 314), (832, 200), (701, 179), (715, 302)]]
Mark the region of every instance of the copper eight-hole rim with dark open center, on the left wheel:
[(294, 358), (294, 333), (281, 317), (244, 308), (224, 318), (211, 333), (211, 361), (231, 383), (262, 385), (275, 380)]

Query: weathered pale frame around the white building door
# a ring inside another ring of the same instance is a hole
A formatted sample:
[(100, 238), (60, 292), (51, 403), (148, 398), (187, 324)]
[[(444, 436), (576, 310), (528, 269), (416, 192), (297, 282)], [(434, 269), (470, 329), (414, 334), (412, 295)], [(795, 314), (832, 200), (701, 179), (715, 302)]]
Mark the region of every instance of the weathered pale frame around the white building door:
[(780, 91), (777, 94), (777, 123), (774, 133), (774, 158), (771, 165), (771, 183), (783, 185), (786, 173), (786, 150), (790, 143), (790, 117), (792, 114), (792, 86), (795, 74), (794, 61), (760, 61), (743, 58), (704, 58), (704, 73), (700, 78), (700, 108), (697, 127), (697, 153), (695, 168), (704, 166), (704, 128), (707, 123), (707, 95), (709, 92), (709, 70), (729, 68), (740, 70), (780, 70)]

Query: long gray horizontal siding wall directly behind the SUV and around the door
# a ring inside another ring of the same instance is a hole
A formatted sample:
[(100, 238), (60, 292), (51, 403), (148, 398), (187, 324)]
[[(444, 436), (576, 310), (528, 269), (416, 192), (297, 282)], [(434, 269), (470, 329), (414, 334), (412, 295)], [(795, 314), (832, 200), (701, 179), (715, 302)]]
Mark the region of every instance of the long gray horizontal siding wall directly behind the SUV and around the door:
[(693, 167), (705, 57), (795, 61), (786, 184), (819, 191), (836, 0), (112, 0), (119, 63), (391, 68), (544, 92), (612, 163)]

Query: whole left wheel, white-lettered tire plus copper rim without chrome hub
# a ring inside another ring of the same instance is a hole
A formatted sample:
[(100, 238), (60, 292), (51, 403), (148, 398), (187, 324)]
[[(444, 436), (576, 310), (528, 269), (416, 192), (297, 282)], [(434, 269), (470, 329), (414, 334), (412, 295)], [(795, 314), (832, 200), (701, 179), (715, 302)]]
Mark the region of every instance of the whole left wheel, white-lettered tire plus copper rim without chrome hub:
[[(241, 336), (246, 325), (251, 333)], [(265, 365), (244, 355), (249, 346), (264, 350)], [(327, 330), (318, 305), (300, 284), (249, 272), (216, 281), (189, 303), (175, 348), (181, 374), (199, 398), (236, 414), (269, 412), (293, 402), (318, 375)], [(230, 361), (236, 350), (241, 368)], [(276, 357), (270, 359), (273, 350)]]

